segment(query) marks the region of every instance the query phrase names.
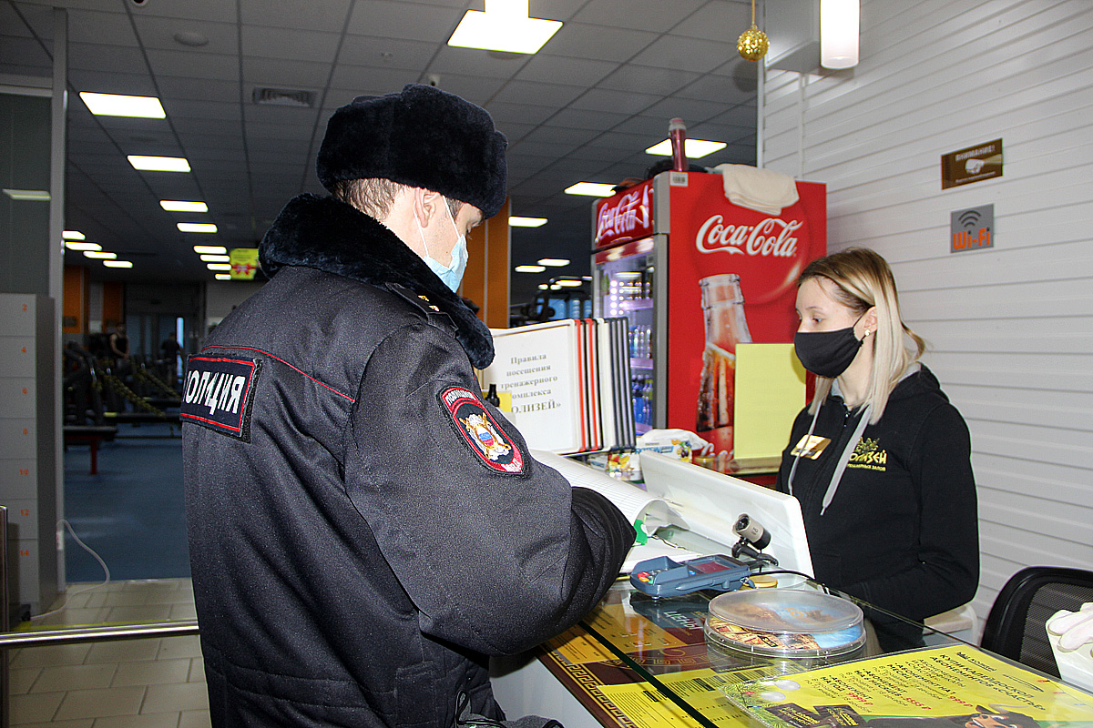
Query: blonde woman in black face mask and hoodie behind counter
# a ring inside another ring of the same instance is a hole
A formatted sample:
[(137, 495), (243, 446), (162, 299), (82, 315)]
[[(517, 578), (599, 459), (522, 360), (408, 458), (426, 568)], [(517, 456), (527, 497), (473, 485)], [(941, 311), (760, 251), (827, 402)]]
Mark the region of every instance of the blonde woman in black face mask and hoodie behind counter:
[[(794, 346), (816, 391), (777, 488), (801, 503), (815, 577), (918, 622), (969, 601), (979, 580), (971, 440), (918, 361), (925, 345), (900, 318), (888, 263), (863, 248), (813, 261), (797, 313)], [(868, 616), (884, 652), (922, 644), (919, 628)]]

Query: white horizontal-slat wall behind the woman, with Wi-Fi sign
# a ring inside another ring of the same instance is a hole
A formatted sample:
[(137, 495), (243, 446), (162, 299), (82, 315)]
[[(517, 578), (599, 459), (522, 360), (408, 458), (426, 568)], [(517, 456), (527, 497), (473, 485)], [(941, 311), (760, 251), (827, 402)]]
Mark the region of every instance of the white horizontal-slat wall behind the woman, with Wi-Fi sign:
[[(827, 183), (828, 246), (896, 274), (972, 431), (985, 617), (1025, 565), (1093, 569), (1093, 3), (862, 0), (853, 71), (768, 71), (767, 168)], [(941, 189), (1002, 139), (1003, 177)], [(992, 249), (950, 213), (995, 205)]]

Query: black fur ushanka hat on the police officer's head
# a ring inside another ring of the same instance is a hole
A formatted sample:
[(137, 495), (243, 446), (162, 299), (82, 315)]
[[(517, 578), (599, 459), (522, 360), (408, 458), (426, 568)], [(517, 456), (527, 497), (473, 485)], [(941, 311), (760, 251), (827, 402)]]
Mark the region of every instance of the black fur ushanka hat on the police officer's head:
[(327, 189), (343, 179), (389, 179), (493, 217), (505, 203), (506, 146), (482, 107), (407, 84), (398, 94), (359, 96), (334, 111), (316, 169)]

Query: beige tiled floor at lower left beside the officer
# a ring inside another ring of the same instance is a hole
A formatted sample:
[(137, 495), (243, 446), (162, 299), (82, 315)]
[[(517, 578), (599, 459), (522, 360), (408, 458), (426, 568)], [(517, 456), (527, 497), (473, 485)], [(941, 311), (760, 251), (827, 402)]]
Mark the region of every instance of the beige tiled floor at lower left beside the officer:
[[(70, 593), (83, 585), (69, 585)], [(77, 594), (45, 624), (193, 619), (188, 578), (113, 582)], [(11, 725), (20, 728), (209, 726), (198, 637), (24, 647), (10, 654)]]

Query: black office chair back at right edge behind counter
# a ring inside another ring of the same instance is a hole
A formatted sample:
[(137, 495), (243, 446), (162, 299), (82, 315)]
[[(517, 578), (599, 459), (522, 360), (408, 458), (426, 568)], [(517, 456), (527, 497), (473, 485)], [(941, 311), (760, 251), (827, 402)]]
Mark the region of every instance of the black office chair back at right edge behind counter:
[(1086, 601), (1093, 601), (1093, 571), (1062, 566), (1022, 569), (998, 593), (979, 644), (1059, 677), (1044, 624), (1058, 610), (1078, 611)]

